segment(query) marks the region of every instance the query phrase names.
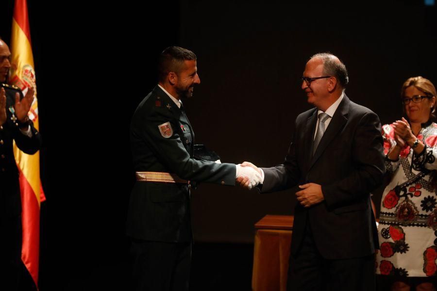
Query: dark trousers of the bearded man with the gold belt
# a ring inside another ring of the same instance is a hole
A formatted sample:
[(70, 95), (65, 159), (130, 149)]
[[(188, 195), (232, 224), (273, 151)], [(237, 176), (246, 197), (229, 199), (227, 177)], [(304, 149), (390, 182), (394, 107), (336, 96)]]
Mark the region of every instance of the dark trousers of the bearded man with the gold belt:
[(134, 291), (188, 291), (192, 242), (131, 239)]

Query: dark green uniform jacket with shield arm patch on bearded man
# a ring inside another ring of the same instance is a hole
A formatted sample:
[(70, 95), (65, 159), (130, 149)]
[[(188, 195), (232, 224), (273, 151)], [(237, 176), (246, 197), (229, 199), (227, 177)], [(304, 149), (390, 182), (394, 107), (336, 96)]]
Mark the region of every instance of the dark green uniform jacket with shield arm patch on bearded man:
[[(166, 122), (172, 129), (168, 137), (158, 127)], [(188, 118), (158, 86), (134, 113), (131, 150), (137, 172), (169, 172), (191, 181), (235, 185), (234, 164), (193, 159), (194, 133)], [(148, 241), (191, 241), (188, 186), (136, 181), (129, 203), (127, 234)]]

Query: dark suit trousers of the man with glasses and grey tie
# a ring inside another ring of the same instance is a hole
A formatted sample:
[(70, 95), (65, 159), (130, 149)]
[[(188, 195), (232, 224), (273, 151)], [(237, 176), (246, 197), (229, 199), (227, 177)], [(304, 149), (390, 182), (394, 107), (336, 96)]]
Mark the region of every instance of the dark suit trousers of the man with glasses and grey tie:
[(302, 245), (290, 254), (287, 291), (374, 291), (375, 280), (374, 255), (324, 259), (307, 220)]

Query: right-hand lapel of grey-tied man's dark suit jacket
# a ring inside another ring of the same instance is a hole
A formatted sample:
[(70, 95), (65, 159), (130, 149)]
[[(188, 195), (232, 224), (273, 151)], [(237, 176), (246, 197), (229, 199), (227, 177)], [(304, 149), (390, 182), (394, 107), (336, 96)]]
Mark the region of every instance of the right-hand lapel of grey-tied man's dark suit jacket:
[[(350, 100), (346, 96), (346, 94), (343, 97), (343, 100), (341, 100), (340, 104), (337, 107), (336, 112), (334, 113), (334, 116), (331, 119), (331, 122), (329, 123), (328, 128), (324, 132), (319, 146), (316, 149), (316, 152), (314, 153), (314, 156), (310, 160), (310, 166), (308, 168), (311, 169), (311, 167), (314, 165), (314, 163), (319, 159), (321, 154), (324, 152), (326, 147), (331, 143), (331, 141), (334, 139), (334, 137), (337, 135), (337, 133), (340, 131), (340, 129), (344, 126), (346, 121), (348, 120), (348, 112), (349, 112), (349, 103)], [(315, 128), (316, 126), (314, 126)], [(314, 135), (314, 130), (312, 130)]]

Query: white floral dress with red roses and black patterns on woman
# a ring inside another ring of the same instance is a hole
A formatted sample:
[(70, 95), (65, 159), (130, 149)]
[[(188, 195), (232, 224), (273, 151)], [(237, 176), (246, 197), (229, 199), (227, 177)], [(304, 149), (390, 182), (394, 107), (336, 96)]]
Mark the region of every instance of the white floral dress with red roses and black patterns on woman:
[(383, 126), (386, 171), (392, 178), (381, 200), (376, 274), (426, 277), (437, 274), (437, 195), (430, 174), (437, 169), (437, 124), (418, 134), (420, 155), (405, 146), (398, 161), (387, 154), (396, 145), (394, 129)]

